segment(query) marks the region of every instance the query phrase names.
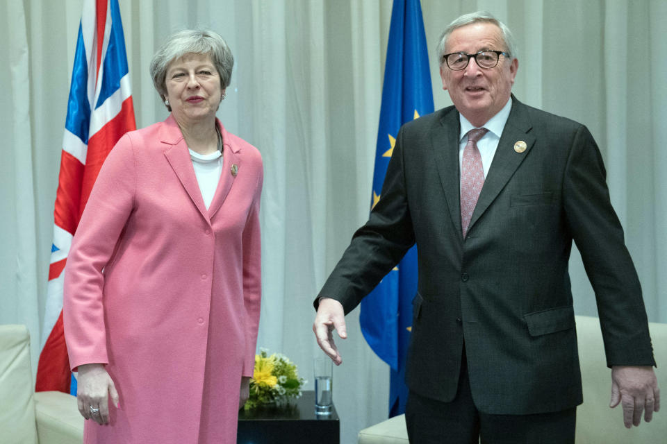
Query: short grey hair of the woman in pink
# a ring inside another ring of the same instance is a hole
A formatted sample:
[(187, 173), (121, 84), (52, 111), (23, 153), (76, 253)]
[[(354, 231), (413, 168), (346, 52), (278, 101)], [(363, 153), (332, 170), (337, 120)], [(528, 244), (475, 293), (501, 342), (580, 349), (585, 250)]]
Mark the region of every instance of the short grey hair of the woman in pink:
[(211, 62), (220, 75), (220, 88), (225, 89), (229, 86), (234, 56), (231, 55), (227, 42), (220, 37), (220, 34), (208, 29), (186, 29), (167, 37), (151, 60), (153, 85), (163, 100), (167, 96), (165, 85), (167, 67), (174, 60), (192, 53), (211, 57)]

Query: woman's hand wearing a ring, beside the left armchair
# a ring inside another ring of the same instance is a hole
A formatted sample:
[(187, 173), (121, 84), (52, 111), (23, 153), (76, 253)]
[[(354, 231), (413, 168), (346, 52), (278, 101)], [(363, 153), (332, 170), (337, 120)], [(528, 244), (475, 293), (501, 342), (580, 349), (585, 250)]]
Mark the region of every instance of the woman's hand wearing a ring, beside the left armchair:
[(76, 385), (76, 403), (83, 418), (92, 419), (100, 425), (108, 424), (109, 395), (115, 407), (118, 407), (118, 392), (104, 365), (79, 366)]

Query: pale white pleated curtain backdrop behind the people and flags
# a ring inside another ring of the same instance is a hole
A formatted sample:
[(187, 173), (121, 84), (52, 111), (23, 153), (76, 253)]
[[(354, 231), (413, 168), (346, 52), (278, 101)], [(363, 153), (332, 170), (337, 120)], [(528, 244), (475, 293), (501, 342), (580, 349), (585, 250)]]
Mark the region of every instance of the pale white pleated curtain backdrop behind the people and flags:
[[(0, 323), (24, 323), (33, 371), (44, 314), (61, 140), (82, 0), (0, 0)], [(308, 378), (318, 354), (312, 300), (368, 216), (392, 3), (384, 0), (120, 0), (136, 118), (167, 116), (148, 74), (179, 28), (221, 33), (236, 58), (220, 119), (264, 158), (259, 345)], [(434, 49), (455, 17), (486, 9), (519, 46), (514, 94), (585, 123), (651, 321), (667, 322), (667, 2), (422, 0), (437, 108), (450, 105)], [(595, 315), (581, 259), (570, 266), (578, 314)], [(334, 370), (341, 442), (386, 418), (388, 368), (347, 318)], [(665, 347), (654, 344), (654, 347)], [(604, 371), (601, 369), (601, 371)], [(665, 384), (665, 382), (663, 382)]]

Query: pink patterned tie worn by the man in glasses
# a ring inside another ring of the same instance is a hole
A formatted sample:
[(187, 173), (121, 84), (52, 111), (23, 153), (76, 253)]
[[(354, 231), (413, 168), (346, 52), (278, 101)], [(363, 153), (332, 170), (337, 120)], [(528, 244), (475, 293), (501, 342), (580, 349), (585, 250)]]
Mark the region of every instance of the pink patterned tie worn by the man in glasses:
[(484, 185), (484, 167), (481, 166), (481, 155), (477, 149), (477, 141), (484, 136), (486, 128), (468, 131), (468, 142), (463, 148), (463, 162), (461, 163), (461, 228), (463, 239), (466, 239), (468, 225), (472, 212), (477, 205), (481, 187)]

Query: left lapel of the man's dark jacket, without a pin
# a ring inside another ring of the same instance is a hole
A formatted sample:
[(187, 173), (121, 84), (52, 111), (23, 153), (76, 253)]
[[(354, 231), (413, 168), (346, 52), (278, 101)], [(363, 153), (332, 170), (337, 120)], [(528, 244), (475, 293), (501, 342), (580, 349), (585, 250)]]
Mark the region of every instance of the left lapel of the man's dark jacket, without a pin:
[(431, 148), (440, 183), (445, 191), (447, 207), (454, 227), (461, 234), (461, 189), (459, 179), (459, 113), (452, 107), (440, 118), (431, 133)]

